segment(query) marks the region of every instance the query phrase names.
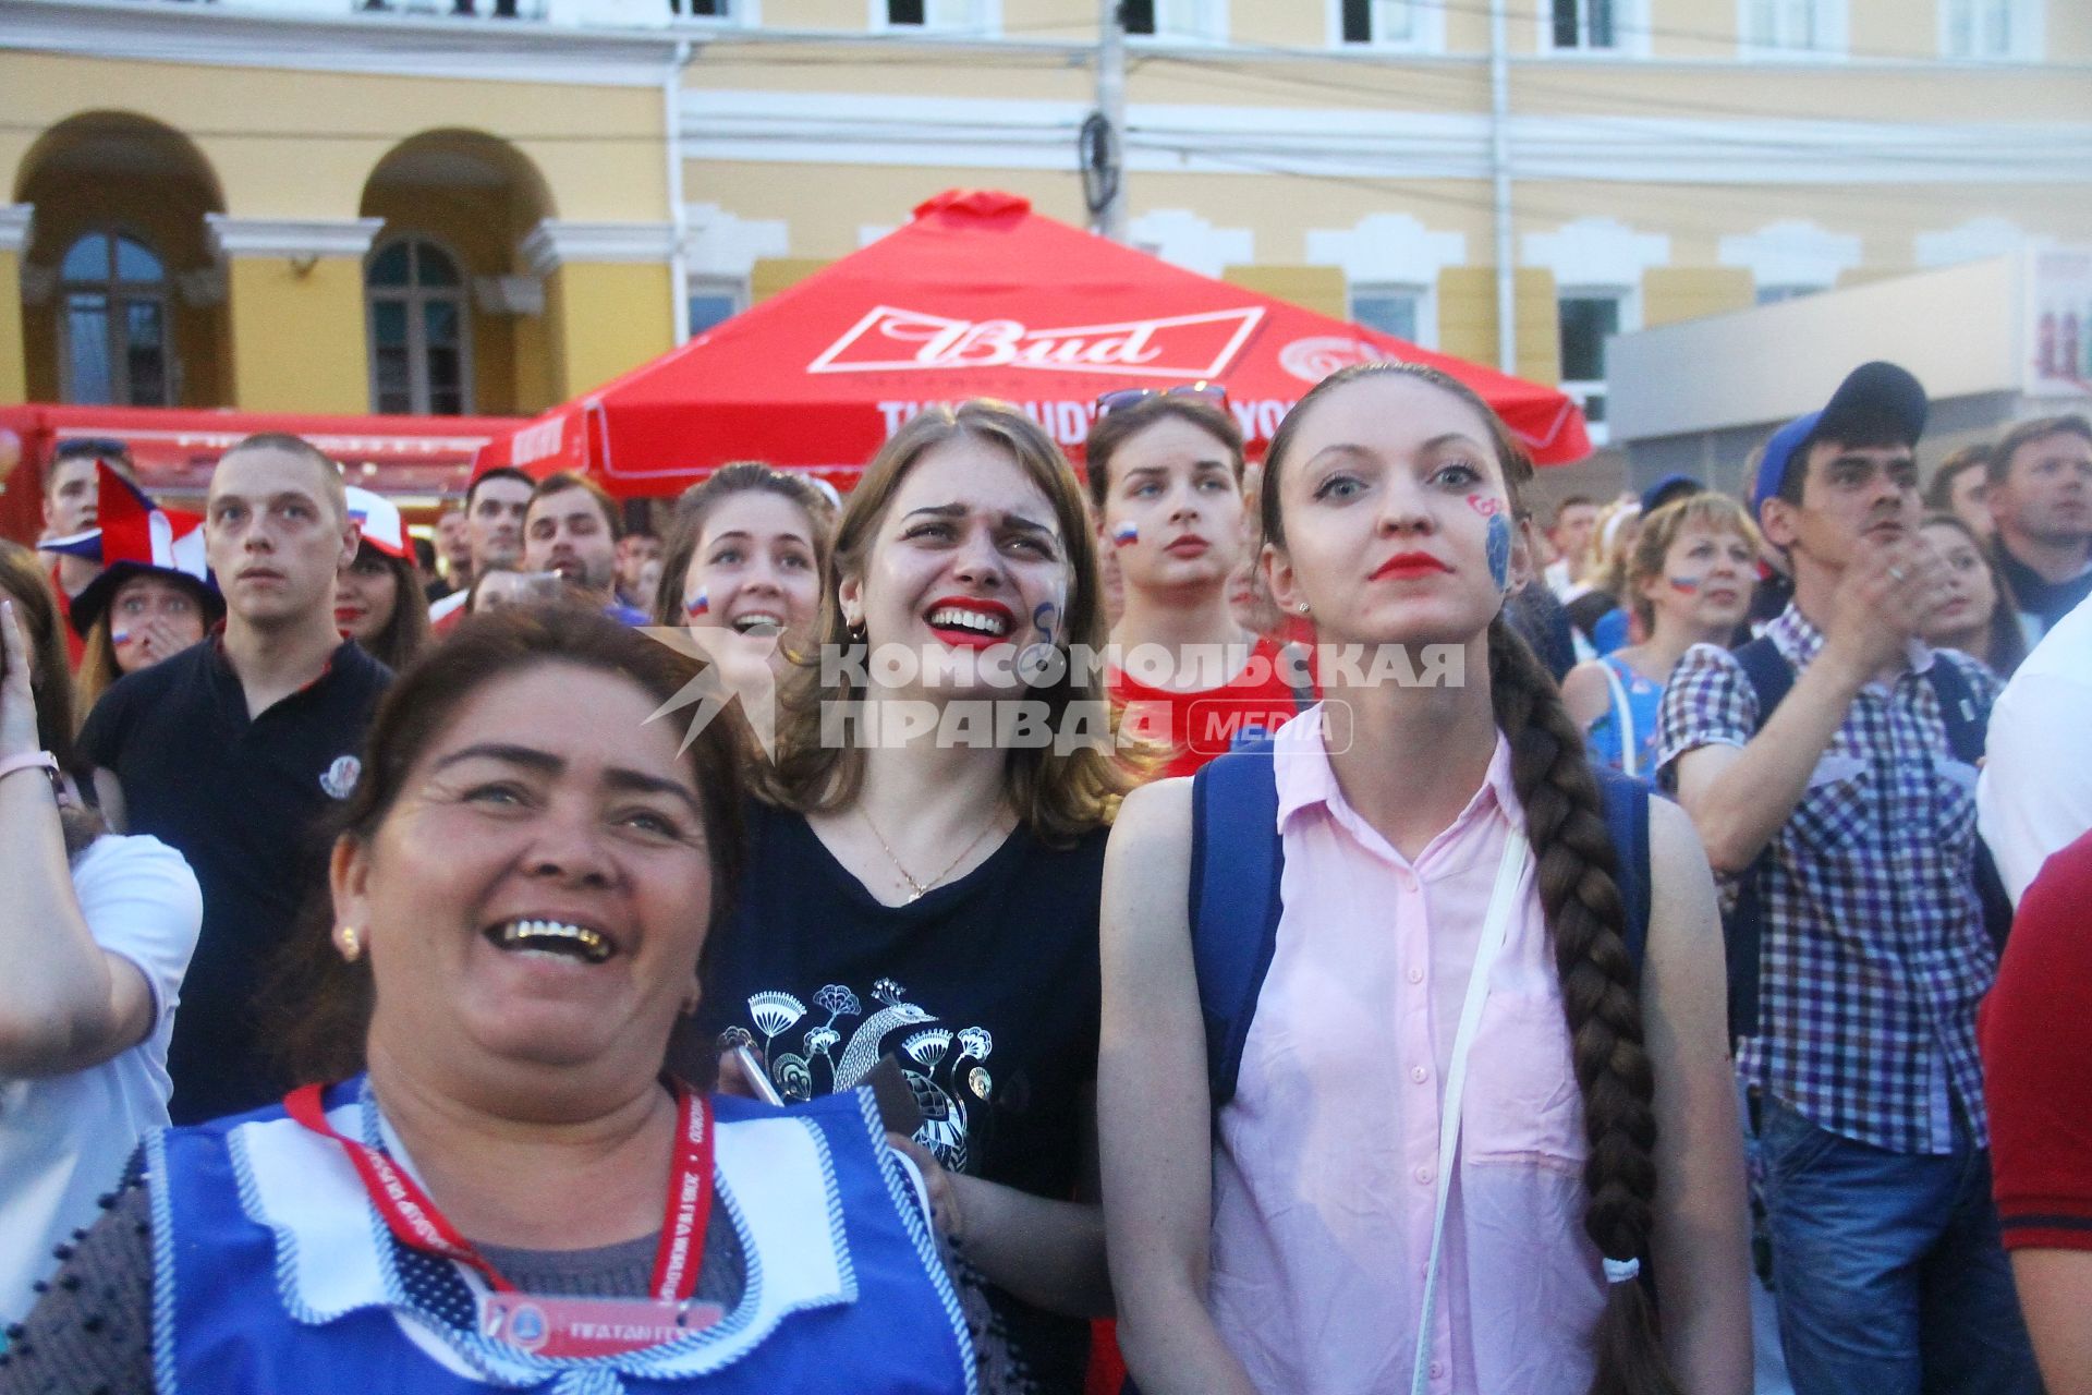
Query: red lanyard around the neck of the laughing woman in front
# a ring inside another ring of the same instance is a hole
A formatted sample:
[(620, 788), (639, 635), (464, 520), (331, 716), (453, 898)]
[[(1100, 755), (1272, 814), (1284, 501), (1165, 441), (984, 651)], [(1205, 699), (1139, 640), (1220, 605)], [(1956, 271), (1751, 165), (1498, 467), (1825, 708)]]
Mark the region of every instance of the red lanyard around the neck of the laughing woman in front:
[[(285, 1096), (285, 1111), (314, 1134), (341, 1144), (364, 1180), (370, 1203), (402, 1244), (456, 1259), (485, 1276), (498, 1293), (515, 1293), (473, 1242), (456, 1232), (406, 1169), (389, 1157), (343, 1136), (326, 1119), (320, 1085), (301, 1085)], [(653, 1297), (684, 1303), (697, 1293), (697, 1272), (705, 1263), (705, 1226), (711, 1221), (711, 1100), (676, 1083), (676, 1161), (667, 1177), (667, 1209), (661, 1244), (655, 1249)]]

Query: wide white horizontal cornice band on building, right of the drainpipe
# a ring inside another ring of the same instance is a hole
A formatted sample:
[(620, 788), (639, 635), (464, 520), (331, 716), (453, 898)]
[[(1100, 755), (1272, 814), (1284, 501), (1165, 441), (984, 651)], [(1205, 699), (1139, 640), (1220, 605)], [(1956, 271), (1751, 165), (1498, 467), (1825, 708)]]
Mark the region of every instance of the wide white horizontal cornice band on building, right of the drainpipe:
[[(1065, 169), (1082, 100), (688, 90), (686, 159)], [(1513, 115), (1519, 180), (1636, 184), (2084, 184), (2084, 121)], [(1134, 102), (1136, 174), (1490, 178), (1485, 113)]]

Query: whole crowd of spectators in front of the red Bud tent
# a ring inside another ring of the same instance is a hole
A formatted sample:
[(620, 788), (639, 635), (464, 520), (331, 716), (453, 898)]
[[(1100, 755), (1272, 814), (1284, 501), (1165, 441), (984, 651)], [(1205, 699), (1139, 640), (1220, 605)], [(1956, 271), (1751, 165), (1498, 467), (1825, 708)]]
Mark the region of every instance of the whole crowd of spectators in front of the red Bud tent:
[(2092, 1391), (2092, 425), (1927, 408), (1548, 527), (1400, 364), (433, 540), (67, 441), (0, 1395), (1741, 1395), (1753, 1284), (1805, 1395)]

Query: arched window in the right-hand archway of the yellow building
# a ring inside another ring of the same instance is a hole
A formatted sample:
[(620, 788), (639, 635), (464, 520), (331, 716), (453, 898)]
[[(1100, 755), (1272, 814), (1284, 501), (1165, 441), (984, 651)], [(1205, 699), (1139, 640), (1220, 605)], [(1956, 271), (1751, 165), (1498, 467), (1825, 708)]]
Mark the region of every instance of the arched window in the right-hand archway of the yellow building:
[(471, 412), (471, 303), (458, 261), (427, 238), (385, 243), (364, 266), (364, 297), (372, 410)]

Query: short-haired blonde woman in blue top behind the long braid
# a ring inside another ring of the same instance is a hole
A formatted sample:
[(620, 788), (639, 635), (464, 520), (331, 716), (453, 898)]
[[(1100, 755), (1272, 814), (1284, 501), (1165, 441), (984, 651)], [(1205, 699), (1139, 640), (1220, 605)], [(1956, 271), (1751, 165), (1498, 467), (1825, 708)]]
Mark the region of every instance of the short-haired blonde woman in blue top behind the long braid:
[(1642, 521), (1625, 567), (1625, 604), (1642, 638), (1563, 680), (1563, 703), (1594, 757), (1644, 780), (1655, 774), (1663, 684), (1695, 644), (1728, 644), (1755, 584), (1757, 529), (1726, 494), (1692, 494)]

